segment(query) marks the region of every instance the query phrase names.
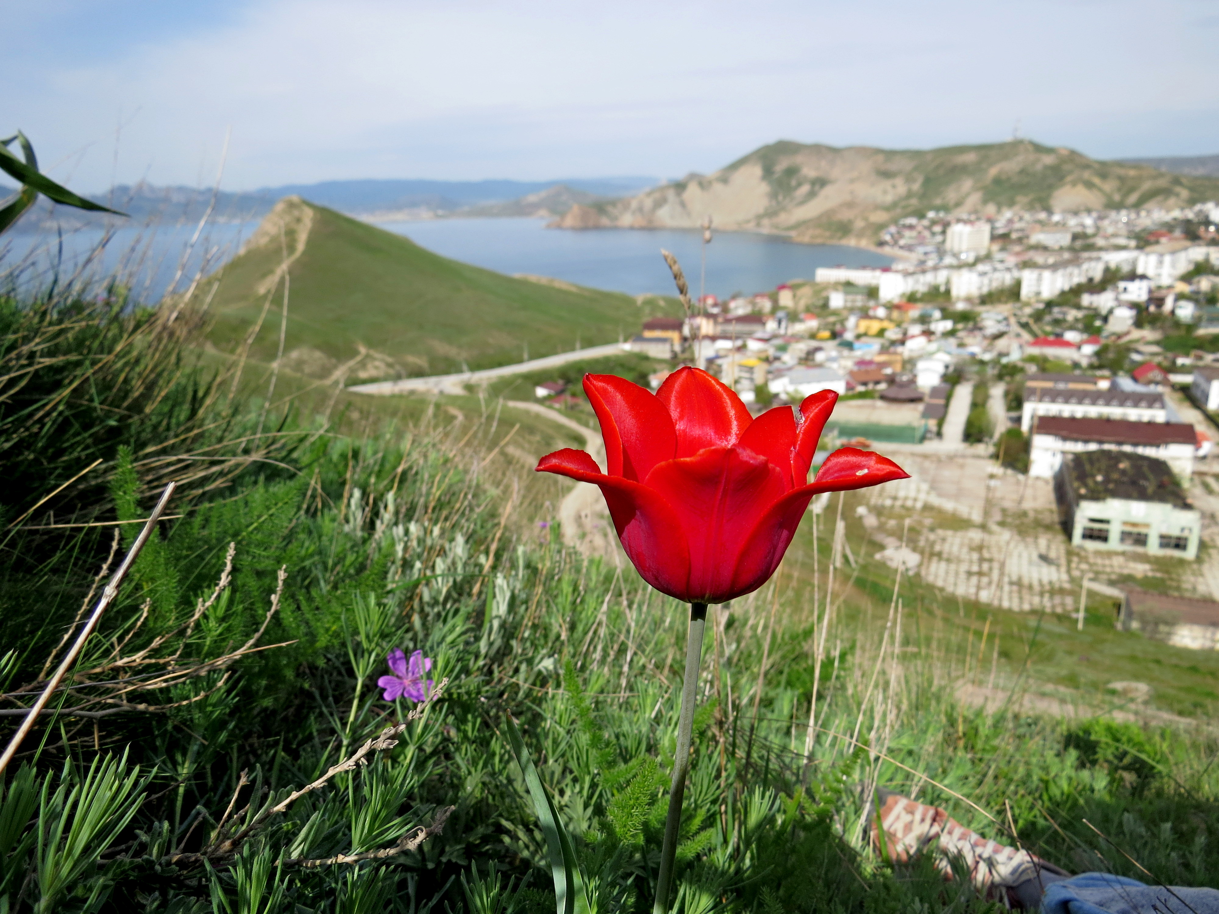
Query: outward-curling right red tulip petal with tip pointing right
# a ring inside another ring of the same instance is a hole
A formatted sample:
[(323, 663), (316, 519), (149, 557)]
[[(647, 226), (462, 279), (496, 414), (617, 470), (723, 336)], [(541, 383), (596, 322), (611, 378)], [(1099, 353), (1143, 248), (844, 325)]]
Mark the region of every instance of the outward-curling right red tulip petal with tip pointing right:
[[(816, 396), (816, 395), (814, 395)], [(807, 402), (807, 401), (806, 401)], [(745, 537), (745, 545), (733, 569), (730, 590), (750, 593), (769, 580), (796, 535), (808, 502), (819, 492), (863, 489), (909, 474), (887, 457), (857, 447), (840, 447), (825, 458), (811, 485), (792, 489), (778, 498), (758, 518)]]

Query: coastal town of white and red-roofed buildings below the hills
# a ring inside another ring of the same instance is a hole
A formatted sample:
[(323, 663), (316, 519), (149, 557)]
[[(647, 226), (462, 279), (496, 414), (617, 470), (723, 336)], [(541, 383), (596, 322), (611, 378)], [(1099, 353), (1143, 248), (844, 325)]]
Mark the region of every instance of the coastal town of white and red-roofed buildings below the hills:
[[(904, 542), (878, 529), (883, 561), (1009, 609), (1074, 613), (1100, 595), (1140, 607), (1121, 625), (1142, 618), (1151, 630), (1146, 619), (1167, 613), (1176, 622), (1159, 625), (1163, 637), (1213, 648), (1215, 221), (1214, 204), (929, 213), (886, 232), (914, 255), (891, 267), (823, 267), (764, 292), (705, 295), (685, 318), (644, 322), (624, 349), (667, 366), (653, 389), (678, 363), (696, 364), (755, 412), (837, 392), (822, 455), (900, 455), (912, 476), (869, 496), (878, 507), (974, 525), (933, 524)], [(1120, 239), (1130, 245), (1111, 244)], [(579, 407), (562, 383), (535, 392)]]

